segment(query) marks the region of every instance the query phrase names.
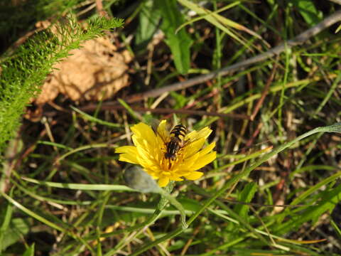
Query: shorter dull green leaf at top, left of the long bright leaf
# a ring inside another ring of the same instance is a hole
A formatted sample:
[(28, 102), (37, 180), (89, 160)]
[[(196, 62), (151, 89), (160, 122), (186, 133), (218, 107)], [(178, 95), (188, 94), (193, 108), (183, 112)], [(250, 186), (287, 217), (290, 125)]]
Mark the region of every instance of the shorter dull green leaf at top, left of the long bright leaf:
[(144, 1), (141, 5), (139, 13), (139, 26), (136, 28), (136, 46), (141, 49), (146, 47), (151, 40), (153, 34), (158, 28), (161, 15), (160, 11), (155, 8), (154, 1)]

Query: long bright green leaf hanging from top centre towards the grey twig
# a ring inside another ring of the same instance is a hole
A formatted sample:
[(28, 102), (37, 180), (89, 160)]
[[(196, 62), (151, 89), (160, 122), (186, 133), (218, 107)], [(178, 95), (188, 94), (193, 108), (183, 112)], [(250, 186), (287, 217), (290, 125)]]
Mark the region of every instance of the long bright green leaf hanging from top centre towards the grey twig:
[(179, 73), (187, 74), (190, 69), (190, 46), (193, 41), (184, 28), (175, 34), (185, 18), (180, 13), (176, 0), (159, 0), (156, 4), (161, 11), (163, 18), (161, 29), (166, 35), (167, 45), (171, 48), (175, 68)]

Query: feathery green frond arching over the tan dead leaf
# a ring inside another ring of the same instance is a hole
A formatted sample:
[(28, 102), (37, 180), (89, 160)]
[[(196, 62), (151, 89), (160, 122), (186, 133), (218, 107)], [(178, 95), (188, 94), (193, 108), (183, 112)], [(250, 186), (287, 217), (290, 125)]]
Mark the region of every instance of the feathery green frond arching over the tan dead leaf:
[(70, 18), (55, 24), (56, 33), (43, 31), (30, 38), (1, 63), (0, 152), (13, 137), (23, 110), (34, 97), (53, 64), (67, 57), (82, 41), (101, 36), (104, 31), (122, 26), (119, 19), (92, 18), (84, 31)]

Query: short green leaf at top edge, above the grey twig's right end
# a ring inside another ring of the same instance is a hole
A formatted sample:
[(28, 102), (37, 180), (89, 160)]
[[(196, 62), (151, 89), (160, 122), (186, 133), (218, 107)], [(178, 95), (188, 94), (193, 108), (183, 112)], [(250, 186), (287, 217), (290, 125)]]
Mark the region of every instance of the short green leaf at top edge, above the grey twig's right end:
[(314, 26), (319, 23), (323, 14), (315, 8), (313, 1), (311, 0), (292, 0), (294, 6), (297, 7), (300, 14), (303, 16), (306, 23), (309, 26)]

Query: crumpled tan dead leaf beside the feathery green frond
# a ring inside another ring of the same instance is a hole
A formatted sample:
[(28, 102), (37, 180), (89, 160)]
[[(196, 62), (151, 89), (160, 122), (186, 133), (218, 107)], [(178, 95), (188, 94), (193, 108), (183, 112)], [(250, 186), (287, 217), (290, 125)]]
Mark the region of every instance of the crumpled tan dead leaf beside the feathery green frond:
[(107, 37), (85, 41), (81, 46), (53, 66), (53, 73), (46, 78), (40, 95), (31, 101), (38, 111), (28, 110), (26, 118), (37, 119), (37, 114), (42, 114), (41, 107), (58, 94), (75, 102), (107, 100), (129, 85), (127, 72), (131, 55), (128, 50), (117, 51)]

